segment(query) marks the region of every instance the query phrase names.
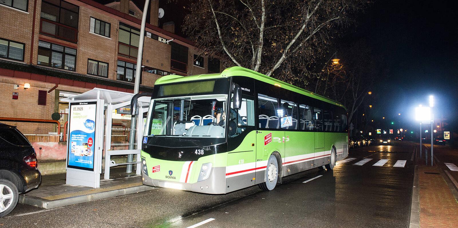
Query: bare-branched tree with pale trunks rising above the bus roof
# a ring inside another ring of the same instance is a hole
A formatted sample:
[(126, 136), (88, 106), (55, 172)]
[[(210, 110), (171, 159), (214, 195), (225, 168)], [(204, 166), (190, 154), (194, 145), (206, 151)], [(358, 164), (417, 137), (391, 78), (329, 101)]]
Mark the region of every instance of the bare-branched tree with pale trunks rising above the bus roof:
[(205, 0), (189, 6), (184, 32), (208, 55), (237, 66), (305, 82), (297, 76), (327, 51), (333, 34), (365, 0)]

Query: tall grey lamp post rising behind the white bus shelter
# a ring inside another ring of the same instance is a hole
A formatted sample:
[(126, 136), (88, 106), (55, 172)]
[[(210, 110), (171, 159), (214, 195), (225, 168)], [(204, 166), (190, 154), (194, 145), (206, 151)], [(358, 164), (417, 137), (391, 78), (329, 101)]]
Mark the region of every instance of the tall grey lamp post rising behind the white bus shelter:
[[(134, 94), (137, 94), (140, 90), (140, 73), (142, 72), (143, 40), (145, 39), (145, 24), (146, 24), (146, 15), (148, 11), (148, 4), (149, 4), (149, 0), (145, 0), (145, 6), (143, 7), (142, 26), (140, 29), (140, 40), (138, 44), (137, 66), (135, 69), (136, 71), (135, 71)], [(136, 116), (132, 115), (131, 131), (129, 133), (129, 149), (135, 149), (136, 122), (137, 122)], [(127, 155), (127, 163), (131, 163), (133, 159), (134, 159), (133, 154)], [(126, 168), (126, 173), (131, 173), (131, 172), (132, 172), (132, 164), (128, 164)]]

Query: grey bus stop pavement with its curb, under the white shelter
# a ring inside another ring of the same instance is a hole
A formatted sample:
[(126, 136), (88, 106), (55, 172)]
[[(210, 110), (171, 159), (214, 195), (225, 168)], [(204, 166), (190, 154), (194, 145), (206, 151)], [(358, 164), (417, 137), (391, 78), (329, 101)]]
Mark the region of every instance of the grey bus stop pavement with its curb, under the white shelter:
[(65, 175), (44, 175), (38, 189), (20, 194), (19, 202), (50, 209), (153, 189), (142, 185), (142, 177), (135, 172), (125, 173), (125, 167), (112, 169), (110, 180), (102, 174), (100, 188), (67, 185)]

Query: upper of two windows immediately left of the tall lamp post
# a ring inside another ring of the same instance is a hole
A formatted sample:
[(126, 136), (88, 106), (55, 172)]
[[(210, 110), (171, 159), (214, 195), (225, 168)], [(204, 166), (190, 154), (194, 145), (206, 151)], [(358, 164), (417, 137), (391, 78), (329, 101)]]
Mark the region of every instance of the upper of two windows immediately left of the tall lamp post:
[(137, 58), (140, 30), (119, 22), (119, 49), (120, 55)]

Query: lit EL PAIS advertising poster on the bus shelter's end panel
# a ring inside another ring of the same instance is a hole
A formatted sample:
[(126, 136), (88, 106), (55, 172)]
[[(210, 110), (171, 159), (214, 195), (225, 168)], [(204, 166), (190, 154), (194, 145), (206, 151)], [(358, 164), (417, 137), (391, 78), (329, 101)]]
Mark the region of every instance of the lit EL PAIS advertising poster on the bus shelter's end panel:
[(94, 170), (96, 101), (70, 104), (68, 167)]

